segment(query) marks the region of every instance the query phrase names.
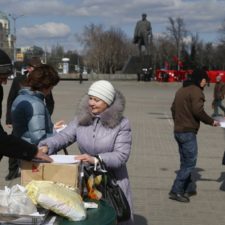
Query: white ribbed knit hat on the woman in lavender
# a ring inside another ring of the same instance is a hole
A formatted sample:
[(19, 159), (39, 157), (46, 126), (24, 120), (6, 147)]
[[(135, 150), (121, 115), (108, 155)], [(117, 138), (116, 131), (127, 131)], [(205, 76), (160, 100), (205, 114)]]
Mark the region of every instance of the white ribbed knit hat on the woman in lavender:
[(111, 105), (115, 97), (115, 89), (107, 80), (99, 80), (94, 82), (88, 90), (88, 95), (100, 98), (108, 105)]

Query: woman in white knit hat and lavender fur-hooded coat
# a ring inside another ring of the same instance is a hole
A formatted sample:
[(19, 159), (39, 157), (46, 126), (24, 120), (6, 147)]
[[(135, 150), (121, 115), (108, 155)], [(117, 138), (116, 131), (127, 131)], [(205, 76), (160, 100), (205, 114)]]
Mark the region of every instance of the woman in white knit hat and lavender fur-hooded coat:
[[(131, 151), (131, 128), (123, 116), (125, 98), (106, 80), (94, 82), (82, 98), (77, 116), (53, 137), (40, 142), (49, 154), (77, 142), (84, 162), (94, 164), (98, 155), (124, 191), (132, 210), (130, 182), (126, 167)], [(118, 224), (133, 224), (130, 220)]]

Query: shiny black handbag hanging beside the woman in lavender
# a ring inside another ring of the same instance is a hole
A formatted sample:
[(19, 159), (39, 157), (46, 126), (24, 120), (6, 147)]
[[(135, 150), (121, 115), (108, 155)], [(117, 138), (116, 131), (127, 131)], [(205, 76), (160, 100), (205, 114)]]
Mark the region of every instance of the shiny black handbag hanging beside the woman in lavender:
[(97, 170), (95, 170), (93, 166), (84, 167), (84, 174), (86, 177), (86, 183), (88, 177), (92, 175), (95, 177), (99, 175), (102, 176), (101, 182), (94, 187), (102, 193), (101, 200), (106, 201), (114, 208), (118, 222), (129, 220), (131, 210), (127, 198), (120, 186), (117, 184), (113, 173), (106, 169), (105, 163), (99, 160), (99, 167)]

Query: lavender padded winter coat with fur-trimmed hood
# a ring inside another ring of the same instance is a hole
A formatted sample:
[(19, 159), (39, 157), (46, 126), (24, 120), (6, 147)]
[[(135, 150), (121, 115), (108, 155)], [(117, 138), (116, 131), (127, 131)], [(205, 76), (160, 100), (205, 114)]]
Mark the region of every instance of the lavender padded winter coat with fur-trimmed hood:
[[(123, 117), (125, 99), (117, 91), (112, 105), (97, 117), (91, 114), (88, 99), (88, 95), (82, 98), (78, 115), (64, 130), (41, 141), (39, 146), (47, 145), (49, 154), (53, 154), (77, 142), (81, 154), (99, 155), (115, 174), (133, 211), (126, 167), (131, 152), (131, 128), (128, 119)], [(131, 225), (132, 220), (133, 215), (130, 221), (119, 224)]]

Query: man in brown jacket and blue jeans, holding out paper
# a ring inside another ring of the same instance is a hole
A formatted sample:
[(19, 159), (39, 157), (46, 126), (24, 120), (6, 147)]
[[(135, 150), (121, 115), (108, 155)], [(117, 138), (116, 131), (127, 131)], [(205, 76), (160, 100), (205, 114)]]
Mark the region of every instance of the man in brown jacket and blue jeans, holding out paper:
[(171, 111), (174, 120), (174, 137), (180, 154), (180, 169), (169, 193), (170, 199), (189, 202), (195, 195), (196, 184), (191, 173), (197, 162), (197, 133), (200, 122), (211, 126), (219, 126), (204, 110), (205, 96), (203, 89), (207, 84), (208, 75), (205, 70), (193, 71), (190, 80), (184, 82), (175, 95)]

